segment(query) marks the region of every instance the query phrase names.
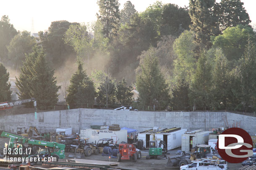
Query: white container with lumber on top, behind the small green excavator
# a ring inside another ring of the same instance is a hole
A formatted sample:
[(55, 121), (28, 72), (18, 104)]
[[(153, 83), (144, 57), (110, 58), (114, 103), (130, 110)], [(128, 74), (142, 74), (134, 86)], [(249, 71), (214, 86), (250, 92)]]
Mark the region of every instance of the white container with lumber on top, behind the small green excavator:
[[(165, 141), (167, 150), (172, 150), (177, 147), (181, 147), (182, 134), (184, 134), (187, 129), (180, 129), (170, 133), (158, 133), (155, 134), (155, 138), (157, 140), (157, 146), (159, 146), (159, 142)], [(163, 149), (163, 146), (162, 146)]]

